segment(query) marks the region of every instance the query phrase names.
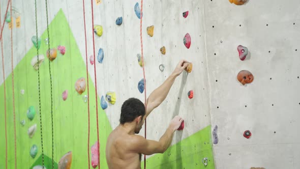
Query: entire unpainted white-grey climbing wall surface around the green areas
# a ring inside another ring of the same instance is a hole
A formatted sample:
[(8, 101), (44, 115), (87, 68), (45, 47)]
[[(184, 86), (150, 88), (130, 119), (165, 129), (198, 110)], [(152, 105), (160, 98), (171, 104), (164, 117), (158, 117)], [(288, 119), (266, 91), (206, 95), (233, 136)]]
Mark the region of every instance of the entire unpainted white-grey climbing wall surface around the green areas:
[[(2, 21), (7, 2), (0, 1)], [(127, 98), (144, 99), (137, 90), (143, 74), (136, 58), (140, 53), (140, 20), (134, 13), (136, 2), (103, 0), (99, 6), (94, 3), (94, 23), (103, 25), (104, 29), (102, 37), (95, 36), (96, 55), (98, 49), (103, 48), (105, 63), (101, 65), (96, 61), (98, 94), (100, 98), (107, 91), (117, 94), (116, 104), (106, 110), (112, 128), (118, 125), (121, 105)], [(85, 61), (82, 1), (48, 3), (49, 21), (63, 9)], [(35, 9), (34, 1), (15, 0), (12, 4), (21, 13), (21, 27), (13, 29), (16, 66), (32, 47), (31, 37), (36, 32)], [(44, 1), (38, 1), (37, 6), (40, 35), (46, 30)], [(85, 1), (85, 10), (89, 57), (93, 54), (91, 1)], [(144, 1), (143, 10), (147, 95), (164, 81), (179, 59), (193, 63), (192, 73), (184, 72), (177, 78), (166, 100), (149, 116), (147, 138), (158, 140), (171, 118), (178, 114), (185, 119), (186, 126), (175, 135), (172, 144), (209, 124), (212, 128), (218, 125), (219, 143), (214, 145), (218, 169), (300, 168), (297, 90), (300, 85), (300, 2), (249, 0), (243, 6), (236, 6), (227, 0), (156, 0)], [(189, 11), (187, 18), (182, 16), (185, 11)], [(121, 26), (115, 25), (119, 16), (123, 16)], [(152, 38), (146, 34), (146, 27), (150, 25), (155, 26)], [(186, 33), (191, 35), (190, 49), (183, 44)], [(7, 77), (11, 73), (8, 25), (3, 31), (3, 42)], [(238, 59), (238, 45), (248, 47), (250, 57), (248, 55), (246, 61)], [(160, 53), (162, 46), (166, 47), (166, 55)], [(1, 60), (0, 63), (2, 65)], [(164, 72), (160, 72), (160, 64), (166, 65)], [(245, 86), (236, 80), (237, 73), (244, 69), (254, 75), (254, 81)], [(88, 71), (94, 77), (94, 67), (89, 66)], [(194, 90), (192, 100), (187, 96), (189, 90)], [(252, 132), (250, 139), (243, 137), (245, 130)]]

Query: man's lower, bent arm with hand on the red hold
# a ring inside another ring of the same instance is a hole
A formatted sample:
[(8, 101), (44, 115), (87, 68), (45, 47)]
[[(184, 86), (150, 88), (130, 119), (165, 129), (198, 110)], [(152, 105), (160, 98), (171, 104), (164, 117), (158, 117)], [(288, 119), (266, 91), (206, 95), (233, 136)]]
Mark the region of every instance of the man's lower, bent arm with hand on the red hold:
[(164, 153), (171, 145), (173, 139), (173, 133), (181, 125), (183, 119), (176, 116), (170, 123), (166, 132), (159, 139), (159, 141), (145, 139), (140, 135), (133, 135), (132, 149), (136, 153), (142, 153), (145, 155), (151, 155), (155, 153)]

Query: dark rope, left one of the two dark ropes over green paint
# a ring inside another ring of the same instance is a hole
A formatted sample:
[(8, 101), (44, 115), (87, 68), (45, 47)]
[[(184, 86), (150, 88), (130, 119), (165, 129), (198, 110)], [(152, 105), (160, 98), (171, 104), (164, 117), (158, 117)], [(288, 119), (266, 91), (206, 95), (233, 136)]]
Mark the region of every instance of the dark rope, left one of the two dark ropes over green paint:
[(39, 86), (39, 110), (41, 126), (41, 145), (42, 145), (42, 166), (44, 167), (44, 149), (43, 149), (43, 129), (42, 129), (42, 111), (41, 111), (41, 90), (40, 90), (40, 64), (39, 64), (39, 40), (38, 40), (38, 20), (37, 20), (37, 0), (35, 0), (36, 9), (36, 36), (37, 36), (37, 54), (38, 54), (38, 86)]

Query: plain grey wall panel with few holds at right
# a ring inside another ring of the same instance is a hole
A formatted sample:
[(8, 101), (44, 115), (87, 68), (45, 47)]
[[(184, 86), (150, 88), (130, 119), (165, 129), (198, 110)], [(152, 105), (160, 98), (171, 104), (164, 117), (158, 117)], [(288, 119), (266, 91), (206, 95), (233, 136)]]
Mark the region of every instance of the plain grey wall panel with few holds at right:
[[(300, 2), (212, 0), (204, 9), (216, 168), (300, 168)], [(244, 61), (238, 45), (249, 50)], [(252, 83), (237, 80), (241, 70)]]

